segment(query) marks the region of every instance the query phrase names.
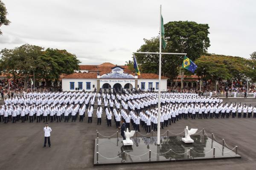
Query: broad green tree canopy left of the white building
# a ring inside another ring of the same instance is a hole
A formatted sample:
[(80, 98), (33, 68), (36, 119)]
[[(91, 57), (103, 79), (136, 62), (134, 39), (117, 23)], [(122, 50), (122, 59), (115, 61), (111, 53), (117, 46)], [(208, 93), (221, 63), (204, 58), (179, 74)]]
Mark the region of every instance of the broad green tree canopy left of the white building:
[(0, 54), (0, 69), (12, 74), (15, 80), (17, 76), (24, 78), (25, 88), (33, 71), (36, 79), (49, 83), (57, 81), (62, 73), (79, 70), (80, 61), (66, 50), (48, 48), (44, 51), (40, 46), (24, 44), (15, 49), (3, 49)]

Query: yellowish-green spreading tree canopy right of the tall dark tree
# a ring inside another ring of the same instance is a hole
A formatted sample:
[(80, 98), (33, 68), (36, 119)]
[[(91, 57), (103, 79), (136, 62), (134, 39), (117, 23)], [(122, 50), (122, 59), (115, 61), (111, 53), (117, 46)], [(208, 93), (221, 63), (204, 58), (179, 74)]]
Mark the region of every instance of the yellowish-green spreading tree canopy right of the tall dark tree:
[(255, 61), (246, 58), (204, 55), (195, 60), (195, 64), (198, 66), (195, 73), (198, 76), (202, 73), (204, 80), (231, 80), (233, 78), (236, 81), (244, 81), (248, 78), (256, 79)]

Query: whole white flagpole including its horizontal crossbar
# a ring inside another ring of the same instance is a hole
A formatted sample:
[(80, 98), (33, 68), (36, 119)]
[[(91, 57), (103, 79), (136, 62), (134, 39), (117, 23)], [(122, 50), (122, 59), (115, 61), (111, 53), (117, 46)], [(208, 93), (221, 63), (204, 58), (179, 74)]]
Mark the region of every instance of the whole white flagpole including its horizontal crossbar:
[(172, 52), (162, 52), (162, 5), (160, 5), (160, 36), (159, 36), (159, 52), (133, 52), (133, 54), (159, 54), (159, 75), (158, 75), (158, 105), (157, 105), (157, 145), (160, 145), (160, 111), (161, 111), (161, 57), (162, 54), (166, 55), (186, 55), (186, 53), (172, 53)]

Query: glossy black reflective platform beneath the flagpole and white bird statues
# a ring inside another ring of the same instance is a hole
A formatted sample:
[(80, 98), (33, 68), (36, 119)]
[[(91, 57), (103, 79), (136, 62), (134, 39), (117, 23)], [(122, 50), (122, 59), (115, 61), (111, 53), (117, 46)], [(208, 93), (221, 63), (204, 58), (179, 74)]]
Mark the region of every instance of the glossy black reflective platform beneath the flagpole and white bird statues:
[[(157, 145), (157, 137), (138, 137), (137, 139), (134, 137), (131, 138), (134, 142), (131, 147), (124, 147), (121, 142), (122, 138), (99, 138), (98, 163), (96, 162), (97, 140), (95, 139), (94, 164), (241, 158), (241, 156), (235, 155), (235, 150), (231, 151), (227, 147), (223, 149), (221, 144), (216, 141), (212, 142), (212, 139), (205, 135), (192, 135), (193, 144), (185, 144), (181, 141), (183, 137), (160, 137), (160, 145)], [(215, 147), (215, 158), (213, 158), (213, 147)], [(190, 148), (192, 148), (191, 152)], [(149, 150), (151, 150), (151, 160), (149, 160)]]

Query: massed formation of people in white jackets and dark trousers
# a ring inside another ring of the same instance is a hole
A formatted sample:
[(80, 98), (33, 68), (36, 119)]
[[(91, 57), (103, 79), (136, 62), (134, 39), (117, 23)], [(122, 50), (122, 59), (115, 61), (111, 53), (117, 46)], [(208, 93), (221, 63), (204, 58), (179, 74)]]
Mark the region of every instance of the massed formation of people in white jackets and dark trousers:
[[(122, 89), (121, 92), (31, 92), (9, 98), (0, 106), (0, 121), (8, 122), (93, 122), (108, 127), (120, 127), (123, 120), (129, 129), (150, 133), (157, 130), (160, 116), (161, 128), (180, 119), (211, 118), (256, 118), (256, 106), (223, 103), (220, 98), (199, 96), (194, 93), (161, 93), (160, 115), (158, 115), (158, 93)], [(103, 107), (104, 106), (104, 107)], [(105, 110), (105, 115), (103, 114)], [(96, 111), (93, 111), (96, 110)]]

